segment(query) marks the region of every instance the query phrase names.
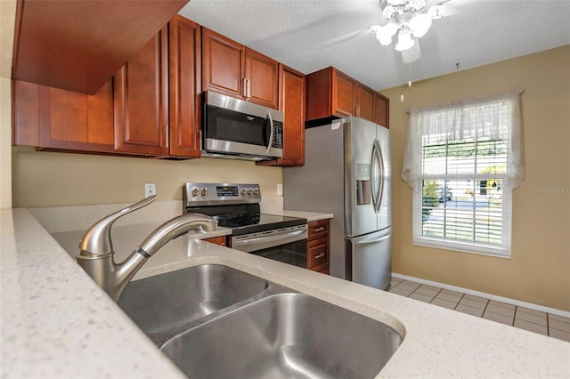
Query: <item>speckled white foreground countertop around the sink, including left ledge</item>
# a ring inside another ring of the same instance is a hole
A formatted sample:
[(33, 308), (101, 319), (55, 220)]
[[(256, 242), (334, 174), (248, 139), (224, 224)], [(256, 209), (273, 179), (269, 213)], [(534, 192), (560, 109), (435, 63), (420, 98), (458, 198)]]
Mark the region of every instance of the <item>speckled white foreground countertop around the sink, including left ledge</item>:
[[(27, 210), (0, 212), (3, 378), (183, 377)], [(394, 327), (403, 343), (378, 377), (570, 376), (570, 343), (196, 238), (169, 242), (135, 279), (204, 263)]]

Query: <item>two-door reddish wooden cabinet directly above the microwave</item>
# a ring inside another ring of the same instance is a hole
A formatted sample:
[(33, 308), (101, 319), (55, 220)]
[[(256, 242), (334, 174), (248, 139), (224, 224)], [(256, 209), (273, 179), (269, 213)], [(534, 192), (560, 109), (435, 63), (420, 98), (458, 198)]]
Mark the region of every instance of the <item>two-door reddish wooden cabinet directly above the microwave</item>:
[(202, 28), (202, 89), (269, 108), (279, 106), (279, 63)]

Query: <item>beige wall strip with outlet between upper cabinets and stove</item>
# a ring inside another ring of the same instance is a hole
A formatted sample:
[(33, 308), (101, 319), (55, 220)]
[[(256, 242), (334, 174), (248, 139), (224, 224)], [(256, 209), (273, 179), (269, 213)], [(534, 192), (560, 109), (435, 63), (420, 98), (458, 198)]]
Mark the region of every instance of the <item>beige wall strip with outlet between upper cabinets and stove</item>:
[(14, 208), (131, 203), (144, 197), (145, 183), (156, 184), (159, 201), (182, 201), (182, 184), (187, 181), (259, 183), (262, 197), (280, 198), (277, 184), (282, 178), (281, 167), (250, 161), (172, 161), (12, 148)]

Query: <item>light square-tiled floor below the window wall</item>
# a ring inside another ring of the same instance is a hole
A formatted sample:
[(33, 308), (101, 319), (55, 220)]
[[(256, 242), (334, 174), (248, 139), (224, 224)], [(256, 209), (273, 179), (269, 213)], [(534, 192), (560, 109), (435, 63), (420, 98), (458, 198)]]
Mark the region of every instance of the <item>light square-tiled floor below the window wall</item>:
[(392, 278), (390, 292), (570, 342), (570, 318), (401, 278)]

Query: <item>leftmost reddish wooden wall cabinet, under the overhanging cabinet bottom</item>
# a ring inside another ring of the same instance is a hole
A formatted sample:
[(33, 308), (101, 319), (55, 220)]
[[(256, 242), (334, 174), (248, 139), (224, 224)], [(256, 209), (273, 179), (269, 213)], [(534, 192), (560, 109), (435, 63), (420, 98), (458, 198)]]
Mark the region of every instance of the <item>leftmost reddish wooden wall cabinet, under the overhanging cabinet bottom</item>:
[(113, 151), (113, 90), (93, 95), (14, 81), (14, 144), (42, 149)]

